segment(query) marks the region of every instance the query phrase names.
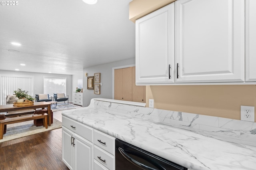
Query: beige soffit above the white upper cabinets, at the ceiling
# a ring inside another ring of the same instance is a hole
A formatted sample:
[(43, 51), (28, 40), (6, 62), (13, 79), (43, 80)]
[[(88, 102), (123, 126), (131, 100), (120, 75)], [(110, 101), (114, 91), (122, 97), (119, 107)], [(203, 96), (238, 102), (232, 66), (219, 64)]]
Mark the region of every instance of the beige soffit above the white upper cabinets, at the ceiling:
[(176, 0), (133, 0), (129, 4), (129, 19), (135, 22), (138, 18), (158, 10)]

